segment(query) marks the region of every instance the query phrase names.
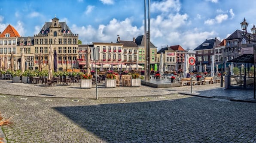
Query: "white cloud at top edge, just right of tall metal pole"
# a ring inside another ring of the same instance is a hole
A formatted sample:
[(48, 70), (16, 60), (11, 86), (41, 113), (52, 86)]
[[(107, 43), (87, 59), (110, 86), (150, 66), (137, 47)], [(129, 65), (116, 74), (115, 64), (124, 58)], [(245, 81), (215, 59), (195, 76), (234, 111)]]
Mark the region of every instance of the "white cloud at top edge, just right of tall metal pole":
[(151, 12), (170, 12), (175, 10), (176, 12), (180, 11), (181, 4), (179, 0), (163, 0), (160, 2), (153, 2), (150, 6)]

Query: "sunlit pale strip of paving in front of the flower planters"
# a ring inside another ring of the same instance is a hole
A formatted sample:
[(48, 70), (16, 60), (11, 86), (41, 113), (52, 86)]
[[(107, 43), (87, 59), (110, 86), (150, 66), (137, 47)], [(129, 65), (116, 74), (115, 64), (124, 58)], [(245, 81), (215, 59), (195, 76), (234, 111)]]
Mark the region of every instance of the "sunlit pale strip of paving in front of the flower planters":
[[(220, 84), (196, 85), (193, 91), (201, 91), (219, 88)], [(90, 89), (79, 88), (80, 84), (75, 83), (71, 86), (42, 86), (41, 84), (24, 84), (12, 83), (10, 80), (0, 80), (0, 93), (22, 96), (37, 97), (65, 97), (65, 98), (95, 98), (96, 86)], [(177, 88), (152, 88), (142, 85), (141, 87), (116, 87), (104, 88), (101, 83), (98, 86), (98, 97), (131, 97), (131, 96), (151, 96), (151, 95), (168, 95), (178, 93), (179, 91), (188, 91), (190, 86)]]

